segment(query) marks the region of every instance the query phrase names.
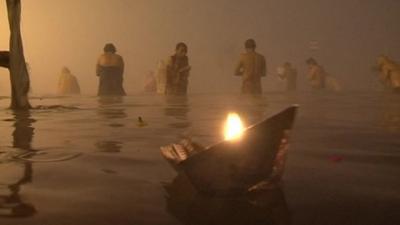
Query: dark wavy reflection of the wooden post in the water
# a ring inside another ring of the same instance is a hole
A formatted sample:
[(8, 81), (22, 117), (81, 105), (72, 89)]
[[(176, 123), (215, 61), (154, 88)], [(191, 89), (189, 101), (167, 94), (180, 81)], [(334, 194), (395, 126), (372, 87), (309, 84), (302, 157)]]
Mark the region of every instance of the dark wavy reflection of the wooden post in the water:
[(13, 115), (13, 148), (0, 152), (0, 216), (30, 217), (36, 209), (20, 196), (20, 191), (22, 185), (32, 182), (32, 163), (13, 156), (35, 152), (31, 147), (35, 120), (29, 111), (14, 111)]

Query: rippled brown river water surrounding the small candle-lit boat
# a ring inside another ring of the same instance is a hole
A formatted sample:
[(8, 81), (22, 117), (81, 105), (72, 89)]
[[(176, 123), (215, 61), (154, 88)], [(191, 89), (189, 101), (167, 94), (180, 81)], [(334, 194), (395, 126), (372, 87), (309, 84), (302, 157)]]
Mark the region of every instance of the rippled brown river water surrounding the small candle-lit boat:
[[(281, 189), (167, 193), (176, 173), (160, 146), (182, 136), (209, 145), (228, 112), (251, 124), (293, 103)], [(44, 107), (30, 112), (8, 104), (0, 99), (1, 225), (400, 224), (400, 95), (49, 97), (32, 99)]]

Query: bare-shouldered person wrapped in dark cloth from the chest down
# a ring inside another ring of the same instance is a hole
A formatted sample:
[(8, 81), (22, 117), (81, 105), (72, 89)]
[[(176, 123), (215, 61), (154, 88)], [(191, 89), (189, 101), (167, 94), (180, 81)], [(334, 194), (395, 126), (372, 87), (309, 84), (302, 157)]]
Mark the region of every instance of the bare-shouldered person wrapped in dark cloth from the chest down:
[(123, 88), (124, 60), (116, 52), (115, 46), (108, 43), (97, 60), (96, 75), (100, 79), (98, 96), (126, 95)]

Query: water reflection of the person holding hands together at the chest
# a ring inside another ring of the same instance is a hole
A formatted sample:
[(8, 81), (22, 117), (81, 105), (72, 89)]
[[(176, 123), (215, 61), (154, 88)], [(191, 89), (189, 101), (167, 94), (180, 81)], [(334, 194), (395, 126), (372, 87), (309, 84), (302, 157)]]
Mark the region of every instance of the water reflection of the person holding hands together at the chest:
[(177, 122), (170, 122), (170, 128), (185, 129), (191, 126), (187, 114), (190, 112), (187, 96), (165, 96), (166, 106), (164, 114), (173, 117)]

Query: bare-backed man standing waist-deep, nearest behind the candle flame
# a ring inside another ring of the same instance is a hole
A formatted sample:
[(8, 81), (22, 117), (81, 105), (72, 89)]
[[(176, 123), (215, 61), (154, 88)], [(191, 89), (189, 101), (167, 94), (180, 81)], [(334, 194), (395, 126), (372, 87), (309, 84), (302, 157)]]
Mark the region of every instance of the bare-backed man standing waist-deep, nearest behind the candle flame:
[(246, 52), (240, 55), (235, 75), (242, 76), (242, 94), (261, 94), (261, 77), (267, 74), (265, 58), (255, 51), (253, 39), (247, 40), (244, 46)]

